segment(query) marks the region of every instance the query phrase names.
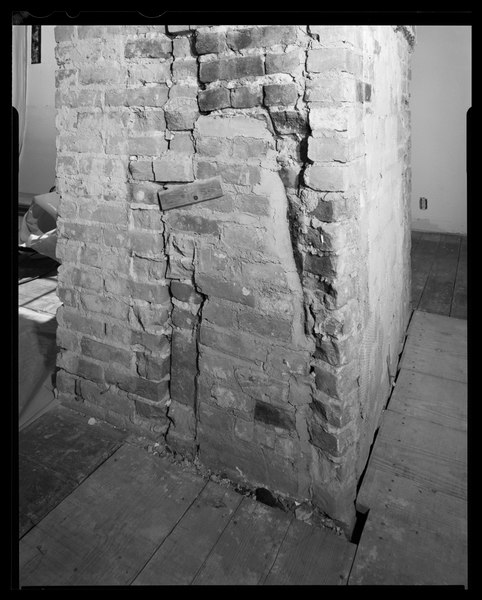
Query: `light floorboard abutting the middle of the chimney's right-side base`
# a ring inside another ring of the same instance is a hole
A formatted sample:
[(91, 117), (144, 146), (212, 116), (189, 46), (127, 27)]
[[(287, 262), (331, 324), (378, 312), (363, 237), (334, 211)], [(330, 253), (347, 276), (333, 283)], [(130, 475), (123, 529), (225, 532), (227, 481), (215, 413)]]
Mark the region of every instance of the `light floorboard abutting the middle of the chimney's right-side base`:
[(467, 384), (401, 369), (388, 408), (467, 431)]

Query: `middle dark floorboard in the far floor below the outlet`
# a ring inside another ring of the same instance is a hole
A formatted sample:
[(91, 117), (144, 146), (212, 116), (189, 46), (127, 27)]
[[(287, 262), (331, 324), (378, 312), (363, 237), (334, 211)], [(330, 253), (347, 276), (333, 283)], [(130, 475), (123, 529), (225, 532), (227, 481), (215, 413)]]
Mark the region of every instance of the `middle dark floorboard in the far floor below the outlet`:
[(441, 235), (427, 283), (420, 298), (419, 310), (450, 314), (460, 249), (459, 236)]

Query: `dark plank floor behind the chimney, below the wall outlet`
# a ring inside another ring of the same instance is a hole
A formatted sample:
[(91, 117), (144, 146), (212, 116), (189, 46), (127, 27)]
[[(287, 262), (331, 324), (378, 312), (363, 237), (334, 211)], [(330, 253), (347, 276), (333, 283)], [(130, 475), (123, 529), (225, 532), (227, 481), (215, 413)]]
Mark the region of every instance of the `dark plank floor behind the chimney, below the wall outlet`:
[(467, 318), (467, 237), (412, 232), (412, 308)]

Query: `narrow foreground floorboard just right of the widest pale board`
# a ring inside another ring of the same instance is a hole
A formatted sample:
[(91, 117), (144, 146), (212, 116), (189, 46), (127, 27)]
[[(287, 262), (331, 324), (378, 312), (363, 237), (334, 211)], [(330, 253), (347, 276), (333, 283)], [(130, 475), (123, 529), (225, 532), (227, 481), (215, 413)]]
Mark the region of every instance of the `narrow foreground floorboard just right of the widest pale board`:
[(133, 585), (188, 585), (243, 496), (210, 481)]

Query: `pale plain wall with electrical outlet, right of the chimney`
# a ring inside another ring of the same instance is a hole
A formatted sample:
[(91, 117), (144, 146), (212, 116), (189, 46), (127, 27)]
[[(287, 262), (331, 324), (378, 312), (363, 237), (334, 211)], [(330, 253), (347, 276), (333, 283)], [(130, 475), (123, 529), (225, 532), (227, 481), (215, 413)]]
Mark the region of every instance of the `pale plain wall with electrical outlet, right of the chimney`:
[[(467, 233), (469, 26), (417, 26), (412, 62), (412, 229)], [(428, 199), (420, 210), (419, 199)]]

